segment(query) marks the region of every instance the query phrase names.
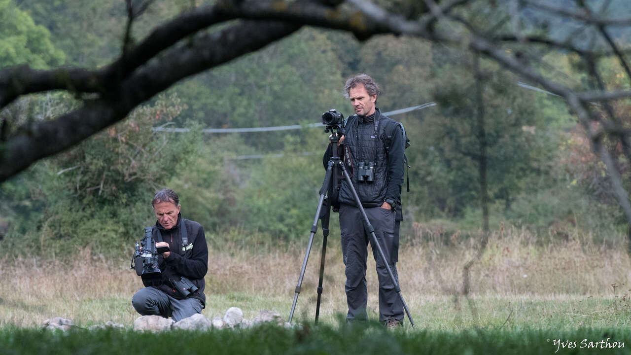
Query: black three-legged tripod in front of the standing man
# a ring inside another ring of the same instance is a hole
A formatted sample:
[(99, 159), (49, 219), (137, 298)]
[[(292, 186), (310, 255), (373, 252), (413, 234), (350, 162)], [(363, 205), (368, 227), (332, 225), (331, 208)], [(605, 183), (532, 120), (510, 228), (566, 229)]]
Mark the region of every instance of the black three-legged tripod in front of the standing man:
[[(289, 312), (289, 323), (292, 323), (293, 312), (296, 308), (296, 303), (298, 301), (298, 294), (302, 289), (302, 280), (305, 276), (305, 270), (307, 269), (307, 261), (309, 260), (309, 253), (311, 251), (311, 246), (313, 244), (315, 232), (317, 232), (317, 220), (322, 219), (322, 234), (324, 238), (322, 239), (322, 254), (320, 258), (320, 279), (318, 281), (317, 287), (317, 303), (315, 305), (315, 323), (318, 321), (318, 316), (320, 314), (320, 301), (322, 296), (322, 279), (324, 279), (324, 260), (326, 257), (326, 242), (329, 236), (329, 217), (331, 217), (331, 197), (333, 196), (334, 190), (339, 189), (338, 179), (340, 177), (339, 171), (341, 171), (342, 176), (346, 179), (348, 186), (353, 193), (353, 197), (355, 198), (355, 203), (360, 209), (362, 213), (363, 222), (366, 230), (370, 233), (370, 241), (372, 242), (373, 248), (377, 248), (379, 256), (381, 257), (382, 262), (386, 265), (387, 274), (394, 285), (394, 289), (401, 299), (401, 304), (403, 304), (403, 309), (405, 310), (406, 315), (408, 315), (408, 319), (410, 320), (410, 324), (414, 327), (414, 320), (410, 315), (410, 310), (408, 310), (408, 305), (405, 303), (403, 299), (403, 295), (401, 294), (401, 289), (399, 288), (399, 282), (397, 282), (394, 274), (392, 274), (392, 269), (387, 262), (386, 255), (384, 254), (383, 249), (381, 248), (379, 241), (377, 240), (377, 236), (375, 236), (375, 228), (370, 224), (370, 220), (366, 215), (365, 210), (362, 207), (362, 203), (360, 202), (360, 198), (357, 195), (357, 191), (353, 186), (350, 176), (346, 171), (346, 167), (344, 166), (342, 160), (338, 156), (338, 142), (339, 142), (339, 133), (334, 131), (332, 126), (326, 126), (325, 132), (328, 132), (329, 129), (333, 132), (333, 134), (329, 137), (329, 141), (331, 141), (331, 151), (333, 152), (333, 156), (329, 159), (329, 163), (327, 165), (326, 174), (324, 175), (324, 183), (322, 183), (322, 188), (320, 189), (320, 199), (318, 201), (317, 210), (315, 211), (314, 223), (311, 226), (311, 234), (309, 236), (309, 243), (307, 243), (307, 252), (305, 253), (305, 258), (302, 262), (302, 267), (300, 268), (300, 276), (298, 276), (298, 284), (295, 289), (295, 295), (293, 296), (292, 309)], [(325, 198), (325, 194), (328, 194), (329, 198)], [(322, 214), (322, 206), (326, 204), (326, 210), (324, 214)]]

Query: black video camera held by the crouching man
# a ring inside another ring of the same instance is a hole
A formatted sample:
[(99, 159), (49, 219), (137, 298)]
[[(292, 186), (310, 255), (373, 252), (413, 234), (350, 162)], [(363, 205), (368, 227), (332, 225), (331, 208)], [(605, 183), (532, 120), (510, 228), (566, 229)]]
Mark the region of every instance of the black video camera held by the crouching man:
[(144, 229), (144, 238), (136, 242), (136, 251), (132, 257), (131, 268), (136, 269), (136, 274), (143, 279), (144, 287), (162, 285), (162, 273), (158, 267), (157, 256), (159, 253), (168, 251), (168, 247), (156, 249), (156, 241), (152, 234), (153, 227)]

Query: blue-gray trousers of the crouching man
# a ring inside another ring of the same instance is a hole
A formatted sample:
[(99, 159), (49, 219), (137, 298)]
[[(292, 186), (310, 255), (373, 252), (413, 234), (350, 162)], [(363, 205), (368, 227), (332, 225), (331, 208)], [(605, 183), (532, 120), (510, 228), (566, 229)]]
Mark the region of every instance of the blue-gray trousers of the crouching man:
[(175, 322), (201, 313), (202, 310), (199, 299), (175, 299), (155, 287), (139, 289), (131, 298), (131, 304), (143, 316), (158, 315), (165, 318), (171, 316)]

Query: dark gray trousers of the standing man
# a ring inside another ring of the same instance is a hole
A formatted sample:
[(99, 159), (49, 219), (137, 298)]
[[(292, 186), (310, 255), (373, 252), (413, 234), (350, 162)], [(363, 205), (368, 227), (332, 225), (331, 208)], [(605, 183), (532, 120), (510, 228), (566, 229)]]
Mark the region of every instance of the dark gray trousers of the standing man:
[[(396, 262), (399, 254), (399, 223), (394, 220), (394, 212), (384, 208), (364, 208), (370, 224), (375, 228), (375, 236), (386, 255), (396, 282)], [(342, 204), (339, 208), (339, 226), (341, 229), (342, 255), (346, 265), (346, 303), (348, 303), (347, 320), (367, 319), (366, 304), (368, 291), (366, 287), (366, 262), (368, 260), (368, 243), (370, 235), (365, 230), (362, 212), (359, 208)], [(377, 263), (379, 277), (379, 321), (397, 319), (403, 322), (403, 304), (396, 293), (394, 284), (388, 275), (386, 265), (379, 255), (376, 246), (372, 245), (372, 254)]]

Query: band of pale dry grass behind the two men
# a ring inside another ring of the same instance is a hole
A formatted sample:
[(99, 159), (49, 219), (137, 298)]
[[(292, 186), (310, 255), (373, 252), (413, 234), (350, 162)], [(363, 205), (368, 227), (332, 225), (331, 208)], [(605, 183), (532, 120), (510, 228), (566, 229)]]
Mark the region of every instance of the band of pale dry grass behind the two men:
[[(458, 296), (463, 265), (476, 241), (446, 236), (415, 224), (416, 236), (399, 251), (401, 290), (422, 327), (453, 329), (470, 325), (631, 325), (629, 258), (625, 249), (579, 241), (540, 246), (536, 236), (511, 228), (493, 232), (487, 251), (471, 270), (471, 292), (479, 318)], [(316, 238), (318, 239), (318, 238)], [(305, 242), (306, 244), (306, 242)], [(209, 250), (204, 315), (239, 306), (246, 318), (263, 309), (288, 316), (306, 245), (256, 254), (239, 248)], [(314, 243), (296, 317), (312, 319), (321, 244)], [(72, 263), (0, 260), (0, 327), (33, 327), (54, 316), (80, 325), (107, 320), (131, 325), (138, 316), (131, 296), (142, 287), (128, 260), (105, 260), (80, 250)], [(369, 256), (369, 314), (377, 318), (377, 277)], [(329, 236), (321, 319), (344, 312), (344, 267), (339, 241)]]

